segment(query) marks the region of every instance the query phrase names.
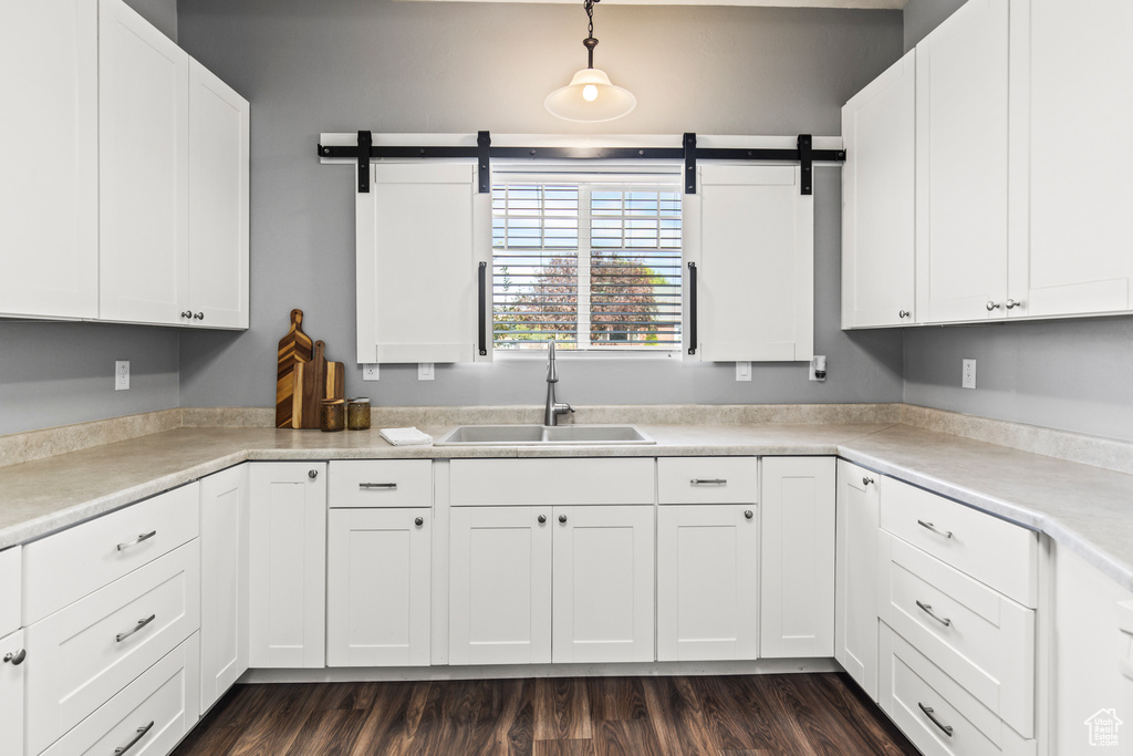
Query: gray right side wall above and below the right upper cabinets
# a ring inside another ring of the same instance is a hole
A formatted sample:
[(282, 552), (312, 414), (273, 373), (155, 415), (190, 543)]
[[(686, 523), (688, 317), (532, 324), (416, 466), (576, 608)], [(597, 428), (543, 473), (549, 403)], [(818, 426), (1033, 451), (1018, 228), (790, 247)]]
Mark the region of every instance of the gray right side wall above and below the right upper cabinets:
[[(962, 0), (910, 0), (905, 49)], [(904, 399), (914, 405), (1133, 441), (1133, 318), (1107, 317), (904, 332)], [(960, 388), (977, 359), (976, 390)]]

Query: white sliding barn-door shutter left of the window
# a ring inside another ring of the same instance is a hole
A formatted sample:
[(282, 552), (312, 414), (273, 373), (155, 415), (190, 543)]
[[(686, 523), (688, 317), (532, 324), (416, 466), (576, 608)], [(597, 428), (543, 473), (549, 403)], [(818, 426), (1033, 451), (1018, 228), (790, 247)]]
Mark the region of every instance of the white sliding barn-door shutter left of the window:
[(477, 315), (491, 329), (492, 195), (475, 163), (377, 163), (370, 177), (356, 203), (358, 362), (489, 360)]

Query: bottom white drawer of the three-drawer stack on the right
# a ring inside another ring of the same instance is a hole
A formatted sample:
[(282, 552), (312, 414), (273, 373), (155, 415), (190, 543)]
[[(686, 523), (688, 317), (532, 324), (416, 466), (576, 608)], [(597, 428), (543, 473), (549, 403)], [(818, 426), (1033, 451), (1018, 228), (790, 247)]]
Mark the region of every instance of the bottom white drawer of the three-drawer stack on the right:
[[(884, 622), (881, 708), (925, 756), (1033, 756), (1010, 727)], [(951, 729), (951, 732), (946, 732)]]

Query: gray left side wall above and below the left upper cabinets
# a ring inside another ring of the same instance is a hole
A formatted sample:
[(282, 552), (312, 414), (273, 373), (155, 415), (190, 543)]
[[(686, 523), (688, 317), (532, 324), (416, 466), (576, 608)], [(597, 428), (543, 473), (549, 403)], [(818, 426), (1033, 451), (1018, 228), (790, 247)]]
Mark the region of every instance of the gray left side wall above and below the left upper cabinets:
[[(177, 0), (127, 0), (177, 39)], [(178, 406), (178, 332), (0, 321), (0, 435)], [(130, 390), (114, 391), (114, 360)]]

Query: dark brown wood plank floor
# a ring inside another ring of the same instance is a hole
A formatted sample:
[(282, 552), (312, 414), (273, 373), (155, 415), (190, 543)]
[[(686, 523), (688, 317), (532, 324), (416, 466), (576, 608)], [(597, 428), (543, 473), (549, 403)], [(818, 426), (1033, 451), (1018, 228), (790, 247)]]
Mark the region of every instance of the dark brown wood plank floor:
[(236, 686), (174, 756), (915, 756), (845, 674)]

